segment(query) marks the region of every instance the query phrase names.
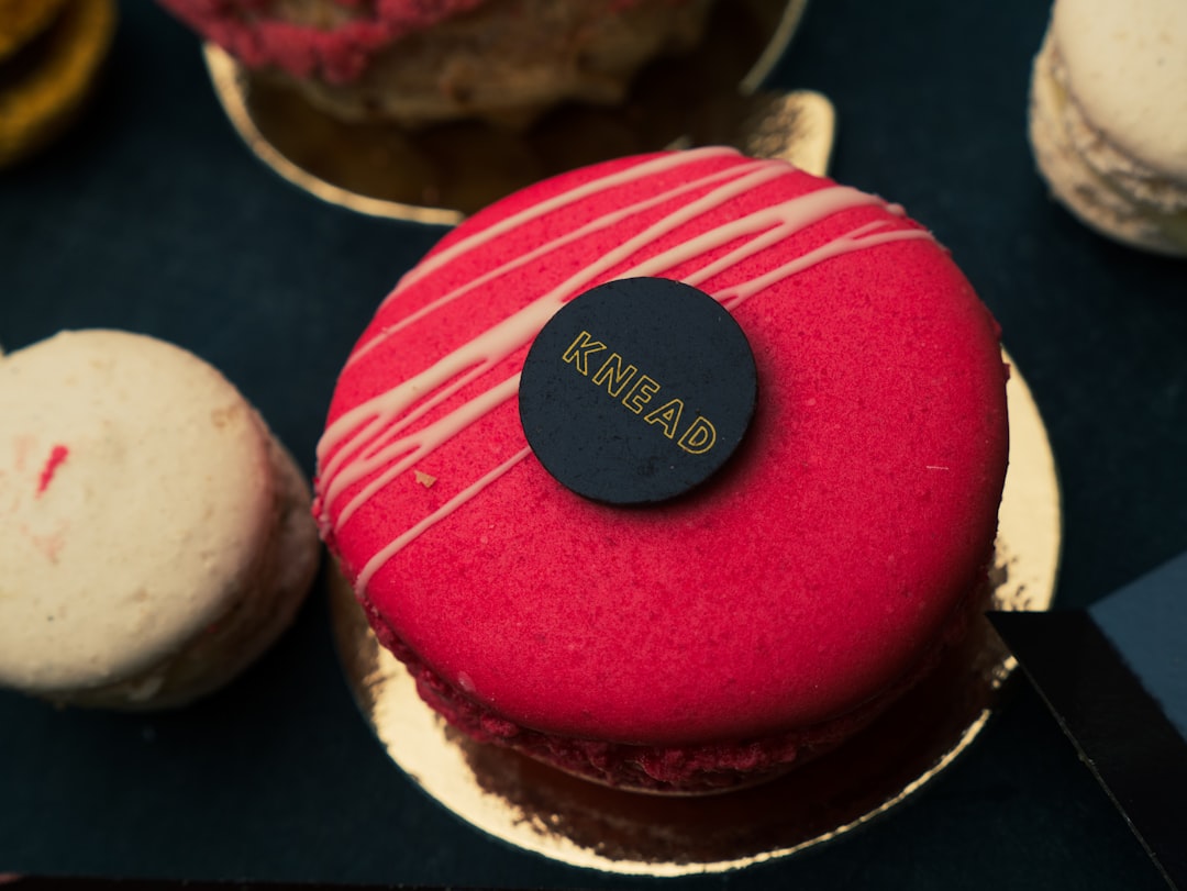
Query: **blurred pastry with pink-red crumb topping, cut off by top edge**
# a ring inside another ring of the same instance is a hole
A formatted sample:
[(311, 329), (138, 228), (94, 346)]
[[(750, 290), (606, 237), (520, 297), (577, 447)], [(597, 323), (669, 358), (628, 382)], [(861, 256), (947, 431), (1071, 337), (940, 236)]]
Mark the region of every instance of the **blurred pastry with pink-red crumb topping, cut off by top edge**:
[(348, 120), (523, 125), (618, 102), (702, 36), (712, 0), (160, 0), (250, 69)]

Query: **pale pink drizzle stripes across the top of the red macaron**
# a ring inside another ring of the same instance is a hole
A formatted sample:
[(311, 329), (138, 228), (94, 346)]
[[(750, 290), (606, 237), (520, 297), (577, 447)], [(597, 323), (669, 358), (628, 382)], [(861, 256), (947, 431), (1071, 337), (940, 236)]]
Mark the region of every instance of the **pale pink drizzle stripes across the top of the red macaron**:
[[(732, 151), (729, 151), (728, 153), (735, 154)], [(679, 154), (680, 153), (677, 153), (677, 157), (679, 157)], [(660, 159), (659, 163), (643, 163), (631, 170), (637, 171), (640, 167), (648, 167), (649, 172), (654, 172), (656, 167), (674, 166), (669, 164), (660, 164), (667, 160), (668, 158), (665, 157)], [(730, 168), (730, 172), (736, 170), (737, 168)], [(506, 359), (515, 352), (515, 350), (528, 344), (544, 324), (547, 323), (552, 314), (556, 313), (567, 300), (572, 299), (578, 293), (582, 293), (585, 286), (592, 280), (603, 275), (615, 266), (627, 263), (631, 256), (635, 256), (637, 253), (645, 250), (649, 244), (655, 243), (667, 233), (694, 221), (703, 214), (709, 212), (730, 198), (743, 195), (747, 191), (757, 187), (762, 183), (786, 174), (787, 170), (788, 168), (782, 164), (770, 163), (755, 163), (742, 167), (743, 174), (736, 177), (732, 182), (712, 189), (710, 192), (700, 198), (697, 198), (680, 210), (665, 216), (662, 219), (653, 223), (636, 236), (620, 244), (614, 250), (599, 256), (595, 262), (584, 267), (580, 272), (552, 288), (548, 293), (527, 304), (525, 307), (488, 329), (478, 337), (446, 355), (434, 365), (401, 382), (400, 384), (396, 384), (394, 388), (356, 406), (339, 416), (326, 429), (326, 433), (318, 447), (318, 454), (322, 459), (334, 452), (334, 458), (326, 465), (320, 479), (322, 498), (319, 520), (323, 528), (332, 527), (334, 529), (341, 530), (349, 517), (353, 516), (360, 507), (366, 504), (367, 501), (375, 495), (375, 492), (383, 489), (394, 478), (412, 467), (424, 456), (429, 454), (443, 443), (461, 433), (463, 429), (484, 416), (488, 412), (493, 411), (496, 406), (512, 399), (519, 387), (518, 374), (501, 381), (478, 396), (468, 400), (461, 407), (451, 411), (445, 416), (429, 424), (415, 433), (402, 437), (399, 435), (400, 432), (402, 432), (410, 424), (423, 416), (427, 411), (431, 411), (431, 408), (440, 405), (463, 387), (474, 382), (488, 370)], [(616, 174), (612, 179), (616, 182), (630, 182), (631, 179), (637, 178), (627, 176), (629, 172), (630, 171)], [(719, 178), (723, 177), (717, 177), (715, 174), (705, 179), (717, 182)], [(608, 187), (604, 184), (604, 180), (598, 182), (603, 183), (599, 189)], [(576, 198), (573, 198), (573, 193), (578, 191), (583, 192), (584, 197), (584, 195), (592, 193), (592, 191), (596, 190), (588, 190), (585, 186), (582, 186), (578, 190), (571, 190), (561, 196), (557, 196), (546, 203), (550, 205), (550, 209), (564, 206), (566, 203), (576, 201)], [(680, 191), (687, 191), (687, 189), (681, 189)], [(789, 235), (805, 229), (813, 223), (817, 223), (842, 210), (863, 205), (880, 205), (889, 208), (891, 212), (896, 211), (896, 208), (887, 205), (886, 202), (876, 198), (875, 196), (845, 186), (827, 186), (814, 192), (798, 196), (796, 198), (777, 205), (764, 208), (747, 217), (719, 225), (709, 233), (681, 243), (677, 248), (671, 248), (653, 257), (640, 261), (635, 263), (633, 268), (620, 272), (618, 275), (622, 278), (631, 275), (661, 275), (665, 272), (677, 268), (678, 266), (693, 262), (699, 256), (703, 256), (706, 253), (718, 249), (734, 241), (742, 241), (737, 248), (729, 252), (725, 256), (717, 259), (712, 263), (694, 273), (686, 273), (681, 275), (683, 280), (687, 284), (697, 285), (710, 280), (715, 275), (725, 272), (726, 269), (736, 266), (738, 262), (754, 256), (755, 254), (776, 244)], [(580, 229), (580, 231), (589, 234), (598, 229), (603, 229), (607, 225), (621, 221), (622, 218), (631, 216), (634, 212), (641, 212), (643, 209), (649, 206), (654, 206), (654, 202), (645, 201), (627, 209), (617, 209), (603, 215), (591, 223), (588, 223)], [(540, 214), (531, 211), (532, 209), (509, 219), (519, 219), (522, 223), (529, 222), (531, 219), (540, 216)], [(612, 217), (612, 221), (607, 222), (610, 217)], [(500, 227), (500, 234), (509, 231), (514, 228), (504, 225), (506, 223), (508, 223), (508, 221), (502, 221), (502, 223), (497, 224)], [(932, 237), (929, 233), (922, 229), (894, 229), (890, 231), (878, 233), (877, 230), (886, 224), (887, 221), (875, 221), (852, 229), (834, 237), (824, 246), (808, 252), (807, 254), (783, 263), (775, 269), (768, 271), (763, 275), (731, 286), (730, 288), (719, 289), (713, 295), (726, 308), (732, 311), (744, 300), (770, 287), (775, 282), (802, 272), (804, 269), (830, 257), (839, 256), (852, 250), (859, 250), (865, 247), (882, 244), (888, 241)], [(495, 227), (490, 227), (490, 229), (494, 228)], [(481, 246), (490, 237), (494, 237), (490, 235), (490, 229), (476, 233), (470, 238), (452, 246), (450, 249), (452, 252), (451, 256), (456, 257), (465, 253), (462, 249), (463, 246), (465, 246), (466, 249), (472, 249)], [(556, 250), (559, 247), (570, 243), (572, 240), (573, 238), (569, 236), (556, 238), (548, 244), (541, 246), (541, 248), (532, 252), (532, 259), (539, 259), (548, 252)], [(437, 263), (437, 266), (440, 265), (442, 263)], [(489, 281), (502, 272), (515, 268), (519, 265), (521, 265), (519, 259), (513, 260), (503, 267), (500, 267), (500, 269), (487, 273), (483, 276), (483, 281)], [(412, 278), (405, 276), (400, 287), (396, 288), (396, 292), (394, 292), (392, 297), (395, 297), (396, 293), (406, 287), (407, 282), (421, 278), (425, 272), (426, 271), (421, 271), (421, 275)], [(464, 293), (472, 286), (474, 282), (469, 282), (468, 285), (462, 286), (458, 291)], [(453, 294), (452, 297), (446, 295), (449, 297), (447, 300), (438, 299), (431, 305), (431, 307), (426, 308), (429, 311), (437, 308), (445, 303), (456, 299), (457, 295), (459, 294)], [(379, 337), (382, 339), (386, 333), (387, 331), (385, 330), (380, 332)], [(368, 344), (366, 349), (369, 349), (369, 346), (370, 344)], [(410, 412), (414, 405), (417, 407)], [(401, 418), (401, 415), (404, 416)], [(522, 462), (528, 454), (531, 454), (529, 448), (521, 448), (512, 458), (483, 475), (478, 480), (459, 491), (427, 517), (405, 533), (401, 533), (387, 546), (381, 548), (367, 561), (356, 579), (356, 588), (360, 593), (366, 591), (368, 583), (374, 578), (375, 573), (379, 572), (388, 560), (395, 556), (395, 554), (419, 537), (419, 535), (426, 529), (440, 522), (440, 520), (469, 502), (478, 492), (484, 490), (488, 485)], [(387, 470), (382, 470), (385, 464), (389, 464)], [(376, 478), (372, 479), (350, 499), (350, 502), (338, 514), (337, 520), (332, 520), (331, 505), (342, 495), (342, 492), (379, 470), (382, 470), (382, 472)]]

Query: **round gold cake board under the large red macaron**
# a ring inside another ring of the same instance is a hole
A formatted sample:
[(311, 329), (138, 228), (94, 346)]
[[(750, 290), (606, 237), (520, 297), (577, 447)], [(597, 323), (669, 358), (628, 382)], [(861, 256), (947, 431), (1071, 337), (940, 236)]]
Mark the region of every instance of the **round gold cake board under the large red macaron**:
[[(1010, 465), (994, 606), (1046, 610), (1060, 558), (1059, 483), (1046, 428), (1017, 368), (1007, 397)], [(425, 793), (520, 848), (627, 874), (724, 872), (787, 857), (870, 822), (933, 781), (973, 742), (1016, 666), (980, 618), (928, 680), (840, 749), (763, 785), (671, 797), (608, 789), (462, 737), (420, 700), (412, 677), (380, 647), (336, 573), (331, 615), (363, 715)]]

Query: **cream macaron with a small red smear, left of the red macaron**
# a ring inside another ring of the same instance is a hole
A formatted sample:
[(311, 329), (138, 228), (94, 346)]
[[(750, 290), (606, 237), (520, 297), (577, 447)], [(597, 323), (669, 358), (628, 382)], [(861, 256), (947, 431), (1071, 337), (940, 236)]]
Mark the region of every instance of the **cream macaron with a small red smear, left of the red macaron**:
[(318, 564), (307, 485), (214, 368), (122, 331), (0, 357), (0, 686), (109, 708), (224, 685)]

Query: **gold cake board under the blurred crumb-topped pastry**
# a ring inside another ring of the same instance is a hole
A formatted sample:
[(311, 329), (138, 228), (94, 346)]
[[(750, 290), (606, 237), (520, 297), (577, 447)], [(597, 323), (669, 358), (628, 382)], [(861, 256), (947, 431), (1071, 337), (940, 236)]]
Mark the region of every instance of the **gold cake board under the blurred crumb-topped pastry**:
[(832, 147), (832, 106), (811, 91), (758, 89), (806, 2), (722, 0), (704, 45), (649, 65), (623, 106), (565, 106), (525, 132), (481, 122), (419, 131), (344, 123), (212, 44), (204, 56), (231, 125), (281, 177), (362, 214), (452, 225), (556, 173), (668, 147), (732, 145), (823, 174)]

